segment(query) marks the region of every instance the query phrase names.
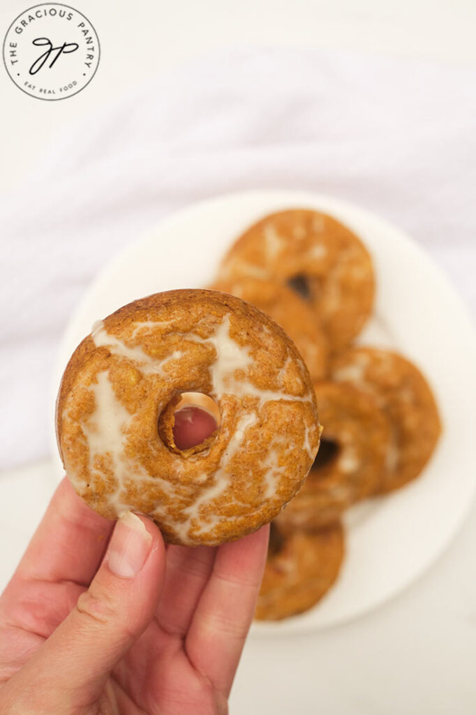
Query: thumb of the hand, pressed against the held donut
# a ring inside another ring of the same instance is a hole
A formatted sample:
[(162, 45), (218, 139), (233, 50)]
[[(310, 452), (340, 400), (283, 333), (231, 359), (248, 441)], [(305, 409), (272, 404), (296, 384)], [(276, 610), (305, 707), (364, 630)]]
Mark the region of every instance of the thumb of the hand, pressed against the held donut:
[(128, 512), (116, 524), (89, 589), (9, 681), (2, 697), (14, 689), (31, 699), (38, 690), (47, 694), (49, 712), (93, 704), (111, 670), (152, 621), (164, 566), (159, 530), (149, 519)]

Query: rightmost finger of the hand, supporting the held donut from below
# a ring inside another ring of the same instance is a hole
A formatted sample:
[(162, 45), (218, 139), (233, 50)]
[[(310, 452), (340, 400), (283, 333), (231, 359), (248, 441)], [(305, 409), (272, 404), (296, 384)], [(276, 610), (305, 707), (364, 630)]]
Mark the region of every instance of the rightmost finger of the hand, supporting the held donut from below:
[(220, 546), (185, 648), (197, 670), (227, 696), (252, 622), (266, 561), (269, 526)]

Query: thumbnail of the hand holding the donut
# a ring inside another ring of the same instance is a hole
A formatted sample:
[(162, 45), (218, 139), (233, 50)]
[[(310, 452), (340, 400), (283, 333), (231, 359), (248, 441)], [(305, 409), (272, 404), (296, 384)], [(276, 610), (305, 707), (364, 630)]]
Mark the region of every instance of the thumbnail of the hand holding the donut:
[(107, 565), (121, 578), (132, 578), (149, 556), (152, 536), (139, 517), (127, 511), (119, 518), (107, 550)]

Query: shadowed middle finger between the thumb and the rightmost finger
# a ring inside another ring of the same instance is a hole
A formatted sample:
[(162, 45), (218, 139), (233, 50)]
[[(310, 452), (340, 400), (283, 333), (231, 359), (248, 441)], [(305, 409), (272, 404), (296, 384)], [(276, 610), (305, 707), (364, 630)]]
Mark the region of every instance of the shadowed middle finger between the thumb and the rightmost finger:
[(167, 573), (157, 609), (157, 623), (172, 636), (182, 638), (189, 628), (197, 601), (212, 573), (215, 548), (167, 548)]

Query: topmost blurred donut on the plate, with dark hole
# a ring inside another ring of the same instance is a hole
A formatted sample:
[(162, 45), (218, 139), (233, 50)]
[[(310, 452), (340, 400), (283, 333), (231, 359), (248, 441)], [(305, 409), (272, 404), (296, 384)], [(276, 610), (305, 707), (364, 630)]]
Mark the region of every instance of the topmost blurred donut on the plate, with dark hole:
[(319, 316), (335, 351), (351, 342), (372, 311), (375, 278), (367, 249), (337, 220), (309, 209), (258, 221), (229, 250), (221, 275), (288, 283)]

